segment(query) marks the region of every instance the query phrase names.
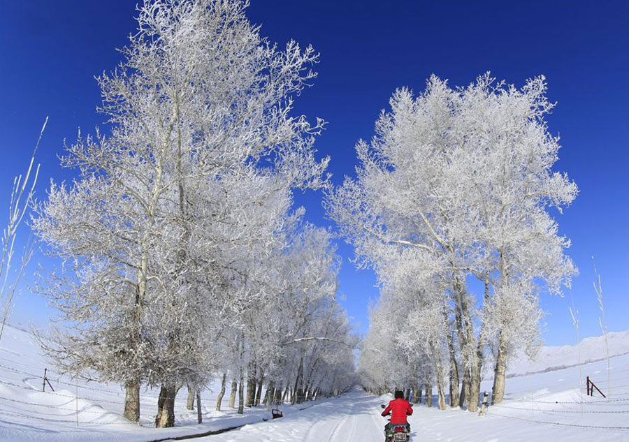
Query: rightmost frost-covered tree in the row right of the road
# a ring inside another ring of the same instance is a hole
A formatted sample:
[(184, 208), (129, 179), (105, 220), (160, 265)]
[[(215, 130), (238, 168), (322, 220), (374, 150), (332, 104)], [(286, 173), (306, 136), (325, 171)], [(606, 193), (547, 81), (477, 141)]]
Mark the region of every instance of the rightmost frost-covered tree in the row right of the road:
[[(525, 326), (527, 318), (529, 324), (539, 322), (537, 291), (561, 293), (576, 272), (564, 253), (570, 241), (558, 235), (549, 214), (549, 208), (561, 212), (570, 205), (577, 187), (552, 170), (559, 145), (544, 119), (554, 108), (546, 92), (543, 76), (518, 89), (486, 74), (462, 94), (461, 113), (470, 129), (460, 140), (468, 161), (458, 170), (463, 191), (470, 195), (467, 216), (475, 220), (467, 242), (483, 248), (475, 273), (496, 297), (486, 297), (489, 303), (511, 302), (513, 313), (519, 306), (522, 314), (520, 319), (514, 314), (508, 318), (509, 307), (501, 307), (502, 325), (496, 340), (489, 341), (496, 348), (493, 402), (503, 399), (507, 357), (516, 342), (527, 348), (539, 342), (536, 328)], [(485, 339), (481, 330), (479, 346)], [(482, 358), (482, 351), (478, 353)]]

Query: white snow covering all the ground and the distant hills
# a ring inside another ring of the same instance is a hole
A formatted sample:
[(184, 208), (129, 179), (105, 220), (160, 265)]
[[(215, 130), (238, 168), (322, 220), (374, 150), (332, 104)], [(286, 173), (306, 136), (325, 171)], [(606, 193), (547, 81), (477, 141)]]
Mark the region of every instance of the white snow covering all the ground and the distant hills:
[[(616, 334), (614, 352), (626, 351), (628, 334)], [(624, 344), (621, 344), (624, 342)], [(585, 340), (584, 355), (600, 348), (600, 341)], [(561, 358), (569, 365), (574, 347), (561, 348)], [(591, 348), (591, 350), (590, 350)], [(536, 366), (543, 371), (557, 364), (558, 356), (544, 349), (547, 363)], [(157, 409), (157, 390), (143, 390), (141, 426), (126, 422), (122, 416), (124, 392), (117, 385), (74, 383), (49, 368), (50, 383), (42, 392), (46, 367), (38, 345), (31, 335), (7, 327), (0, 348), (0, 441), (155, 441), (168, 437), (207, 432), (226, 427), (245, 427), (198, 440), (215, 442), (326, 442), (381, 441), (386, 423), (379, 416), (378, 398), (356, 389), (343, 397), (299, 408), (282, 407), (285, 417), (269, 420), (264, 408), (247, 410), (244, 416), (233, 410), (214, 411), (216, 391), (203, 392), (203, 425), (196, 424), (196, 411), (185, 409), (186, 392), (176, 401), (173, 429), (151, 428)], [(516, 364), (514, 371), (520, 371)], [(530, 441), (628, 441), (629, 440), (629, 355), (611, 359), (609, 383), (607, 360), (582, 367), (608, 395), (586, 397), (579, 389), (579, 369), (569, 367), (516, 376), (507, 380), (507, 401), (489, 408), (487, 415), (459, 410), (439, 411), (423, 404), (415, 406), (410, 418), (415, 441), (456, 442), (530, 442)], [(483, 390), (491, 390), (486, 379)], [(77, 396), (79, 399), (77, 399)], [(229, 400), (229, 389), (224, 408)], [(298, 411), (298, 412), (297, 412)]]

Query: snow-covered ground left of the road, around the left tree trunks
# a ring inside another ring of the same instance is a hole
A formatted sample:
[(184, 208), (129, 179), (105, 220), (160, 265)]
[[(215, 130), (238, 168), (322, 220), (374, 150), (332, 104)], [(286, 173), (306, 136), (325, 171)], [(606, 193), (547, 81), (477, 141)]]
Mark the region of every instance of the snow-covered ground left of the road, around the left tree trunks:
[[(44, 369), (49, 385), (43, 388)], [(75, 382), (45, 362), (34, 337), (6, 326), (0, 345), (0, 442), (20, 441), (154, 441), (170, 436), (238, 427), (269, 419), (266, 408), (245, 409), (238, 415), (229, 408), (229, 385), (222, 405), (215, 411), (219, 385), (201, 394), (203, 424), (197, 425), (196, 409), (186, 409), (187, 390), (175, 399), (174, 429), (152, 428), (159, 390), (140, 392), (140, 425), (122, 418), (124, 390), (117, 384)], [(284, 415), (311, 404), (284, 406)]]

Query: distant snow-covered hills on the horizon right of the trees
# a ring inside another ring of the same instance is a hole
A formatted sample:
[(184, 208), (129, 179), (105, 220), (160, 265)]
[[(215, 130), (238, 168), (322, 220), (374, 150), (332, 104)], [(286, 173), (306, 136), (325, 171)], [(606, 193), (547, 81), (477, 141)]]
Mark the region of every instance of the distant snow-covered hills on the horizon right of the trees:
[[(617, 356), (629, 353), (629, 330), (624, 332), (609, 332), (607, 334), (609, 355)], [(605, 337), (588, 337), (579, 342), (579, 346), (546, 346), (542, 347), (539, 355), (531, 361), (522, 356), (514, 360), (507, 374), (510, 376), (539, 373), (565, 367), (573, 367), (581, 362), (593, 362), (607, 358)]]

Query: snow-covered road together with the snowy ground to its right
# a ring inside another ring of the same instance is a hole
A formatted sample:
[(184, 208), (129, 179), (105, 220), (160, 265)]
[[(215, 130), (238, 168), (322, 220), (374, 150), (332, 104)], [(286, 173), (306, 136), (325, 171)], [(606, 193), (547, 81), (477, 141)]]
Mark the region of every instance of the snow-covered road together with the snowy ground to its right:
[[(577, 368), (507, 380), (509, 400), (486, 415), (414, 406), (411, 441), (614, 442), (629, 441), (629, 355), (612, 358), (609, 400), (581, 396)], [(606, 389), (607, 361), (586, 364), (583, 375)], [(483, 388), (491, 390), (491, 380)], [(382, 442), (386, 421), (380, 404), (390, 398), (360, 390), (281, 420), (247, 425), (205, 442)]]

